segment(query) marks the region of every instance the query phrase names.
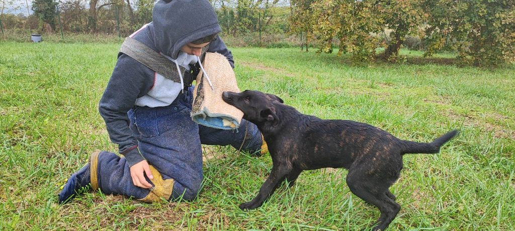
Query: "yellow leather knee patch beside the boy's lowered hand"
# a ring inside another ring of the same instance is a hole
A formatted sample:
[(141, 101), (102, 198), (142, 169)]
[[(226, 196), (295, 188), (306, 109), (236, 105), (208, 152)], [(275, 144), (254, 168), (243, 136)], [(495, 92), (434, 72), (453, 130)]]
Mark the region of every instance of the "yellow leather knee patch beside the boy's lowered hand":
[(154, 187), (150, 189), (150, 192), (145, 198), (139, 200), (148, 203), (159, 202), (162, 201), (162, 199), (168, 201), (171, 196), (171, 191), (174, 189), (174, 179), (163, 180), (161, 173), (151, 165), (150, 172), (152, 172), (154, 176), (154, 179), (151, 180)]

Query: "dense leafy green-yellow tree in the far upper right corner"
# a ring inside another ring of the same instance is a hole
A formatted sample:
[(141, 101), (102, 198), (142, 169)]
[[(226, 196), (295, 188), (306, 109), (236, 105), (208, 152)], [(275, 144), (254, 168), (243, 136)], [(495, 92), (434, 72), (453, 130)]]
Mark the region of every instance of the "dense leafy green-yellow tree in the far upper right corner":
[(515, 1), (426, 0), (426, 56), (451, 47), (466, 63), (489, 66), (515, 62)]

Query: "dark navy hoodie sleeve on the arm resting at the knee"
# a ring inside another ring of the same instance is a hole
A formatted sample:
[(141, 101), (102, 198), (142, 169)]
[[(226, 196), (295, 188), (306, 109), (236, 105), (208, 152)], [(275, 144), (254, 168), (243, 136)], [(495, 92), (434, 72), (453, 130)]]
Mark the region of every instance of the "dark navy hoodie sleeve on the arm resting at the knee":
[(98, 111), (106, 122), (109, 137), (118, 144), (118, 150), (130, 166), (145, 158), (138, 150), (138, 140), (129, 129), (127, 112), (136, 99), (147, 94), (154, 83), (152, 70), (138, 61), (122, 54), (118, 57), (113, 74), (104, 95), (98, 104)]

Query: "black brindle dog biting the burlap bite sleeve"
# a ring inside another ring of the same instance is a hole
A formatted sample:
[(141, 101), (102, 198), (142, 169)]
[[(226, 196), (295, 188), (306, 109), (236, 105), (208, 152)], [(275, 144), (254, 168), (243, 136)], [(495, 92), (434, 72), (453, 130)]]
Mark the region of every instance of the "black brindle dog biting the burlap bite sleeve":
[(438, 153), (458, 133), (454, 130), (432, 143), (417, 143), (365, 123), (301, 114), (271, 94), (224, 92), (222, 98), (258, 126), (273, 162), (258, 196), (239, 208), (258, 208), (282, 181), (293, 185), (303, 170), (346, 168), (352, 193), (381, 210), (373, 230), (384, 230), (401, 209), (388, 188), (399, 179), (402, 155)]

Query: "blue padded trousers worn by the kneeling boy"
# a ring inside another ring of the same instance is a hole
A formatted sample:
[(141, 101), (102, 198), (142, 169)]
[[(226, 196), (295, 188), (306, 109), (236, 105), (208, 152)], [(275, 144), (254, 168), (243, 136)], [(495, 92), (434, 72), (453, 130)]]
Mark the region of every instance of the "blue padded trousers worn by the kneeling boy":
[[(129, 127), (138, 138), (142, 155), (164, 180), (174, 180), (169, 200), (181, 197), (193, 200), (200, 191), (203, 179), (201, 144), (231, 145), (252, 153), (259, 152), (262, 145), (258, 128), (246, 120), (242, 120), (239, 132), (199, 126), (190, 117), (192, 103), (193, 86), (168, 106), (136, 106), (128, 112)], [(133, 185), (128, 163), (114, 153), (99, 155), (97, 174), (104, 193), (142, 199), (150, 191)]]

